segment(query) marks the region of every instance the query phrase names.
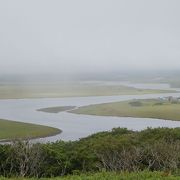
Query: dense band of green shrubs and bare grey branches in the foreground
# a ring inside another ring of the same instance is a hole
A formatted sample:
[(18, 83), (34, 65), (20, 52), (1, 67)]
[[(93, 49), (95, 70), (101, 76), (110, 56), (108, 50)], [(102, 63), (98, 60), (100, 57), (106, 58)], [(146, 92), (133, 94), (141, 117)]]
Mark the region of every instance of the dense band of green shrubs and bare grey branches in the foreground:
[(74, 142), (0, 145), (0, 175), (54, 177), (99, 171), (168, 171), (180, 169), (180, 128), (123, 128)]

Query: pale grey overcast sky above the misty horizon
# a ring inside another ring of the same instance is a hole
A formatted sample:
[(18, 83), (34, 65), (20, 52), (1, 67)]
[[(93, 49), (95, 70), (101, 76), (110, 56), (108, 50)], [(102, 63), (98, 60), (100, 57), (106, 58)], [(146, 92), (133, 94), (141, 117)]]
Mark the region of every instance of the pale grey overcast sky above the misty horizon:
[(180, 0), (0, 0), (0, 72), (180, 68)]

